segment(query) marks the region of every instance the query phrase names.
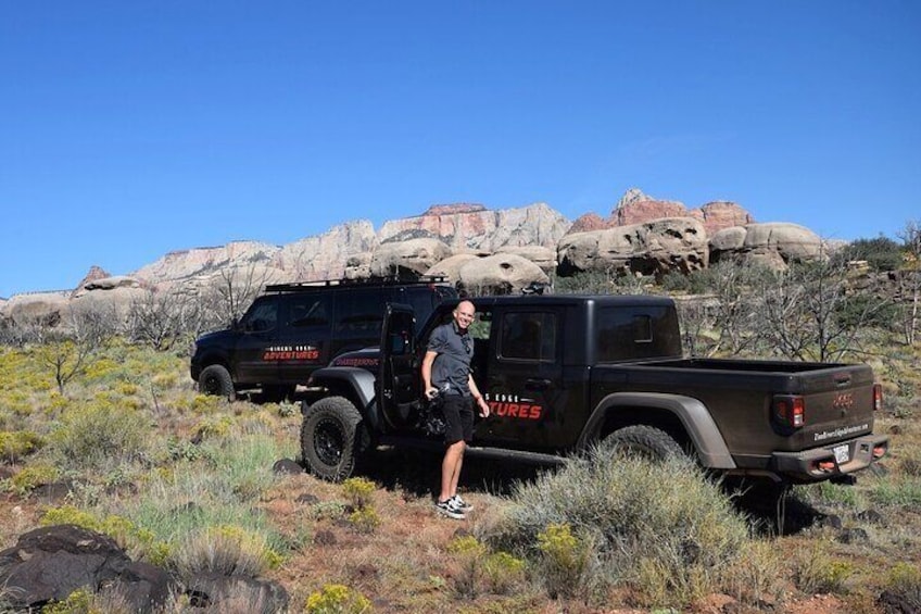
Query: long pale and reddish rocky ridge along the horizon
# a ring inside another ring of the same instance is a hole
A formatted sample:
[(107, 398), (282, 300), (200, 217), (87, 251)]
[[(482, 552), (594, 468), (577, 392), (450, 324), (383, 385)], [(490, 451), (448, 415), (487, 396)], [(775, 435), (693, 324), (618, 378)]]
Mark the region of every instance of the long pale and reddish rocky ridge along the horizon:
[(173, 251), (128, 275), (112, 277), (93, 267), (73, 291), (0, 301), (0, 318), (53, 315), (74, 301), (124, 305), (149, 291), (195, 293), (241, 276), (264, 285), (429, 274), (477, 292), (508, 292), (583, 271), (659, 276), (726, 259), (783, 267), (820, 251), (819, 237), (808, 228), (755, 223), (734, 202), (689, 209), (631, 188), (607, 217), (589, 213), (575, 223), (543, 202), (502, 210), (434, 204), (379, 230), (357, 220), (285, 246), (235, 241)]

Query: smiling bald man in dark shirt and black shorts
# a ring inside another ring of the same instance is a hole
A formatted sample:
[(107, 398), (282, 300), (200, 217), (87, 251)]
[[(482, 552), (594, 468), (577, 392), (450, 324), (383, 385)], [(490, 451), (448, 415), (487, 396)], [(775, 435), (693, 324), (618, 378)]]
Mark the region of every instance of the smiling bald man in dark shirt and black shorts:
[(468, 328), (476, 310), (470, 301), (460, 301), (454, 319), (432, 330), (422, 359), (422, 386), (429, 400), (442, 397), (444, 411), (444, 460), (441, 462), (441, 491), (436, 510), (450, 518), (464, 519), (474, 508), (457, 494), (460, 465), (467, 441), (474, 437), (474, 403), (480, 415), (489, 415), (489, 405), (470, 374), (474, 339)]

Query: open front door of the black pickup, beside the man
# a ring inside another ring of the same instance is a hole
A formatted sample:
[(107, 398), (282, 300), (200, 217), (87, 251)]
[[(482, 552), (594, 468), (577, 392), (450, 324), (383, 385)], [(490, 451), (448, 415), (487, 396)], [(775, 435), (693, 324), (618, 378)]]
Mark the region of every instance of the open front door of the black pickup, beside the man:
[(395, 431), (411, 428), (418, 416), (421, 376), (415, 327), (413, 308), (400, 303), (387, 305), (376, 392), (381, 414)]

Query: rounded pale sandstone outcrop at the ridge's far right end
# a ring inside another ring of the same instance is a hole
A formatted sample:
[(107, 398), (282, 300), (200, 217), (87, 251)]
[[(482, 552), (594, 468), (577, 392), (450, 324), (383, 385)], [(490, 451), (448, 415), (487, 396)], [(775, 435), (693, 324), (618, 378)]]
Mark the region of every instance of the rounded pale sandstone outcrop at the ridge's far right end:
[(784, 268), (791, 262), (822, 258), (822, 240), (797, 224), (767, 223), (733, 226), (710, 239), (712, 261), (757, 263)]

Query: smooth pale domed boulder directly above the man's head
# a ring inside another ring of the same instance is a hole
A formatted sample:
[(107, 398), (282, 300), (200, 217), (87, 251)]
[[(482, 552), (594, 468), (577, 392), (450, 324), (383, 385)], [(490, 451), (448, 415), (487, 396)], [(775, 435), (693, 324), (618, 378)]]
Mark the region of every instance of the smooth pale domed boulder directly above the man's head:
[(472, 295), (512, 295), (550, 278), (541, 267), (514, 253), (497, 253), (468, 262), (460, 267), (457, 287)]

